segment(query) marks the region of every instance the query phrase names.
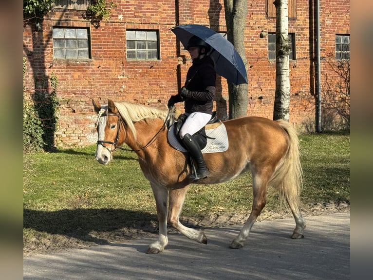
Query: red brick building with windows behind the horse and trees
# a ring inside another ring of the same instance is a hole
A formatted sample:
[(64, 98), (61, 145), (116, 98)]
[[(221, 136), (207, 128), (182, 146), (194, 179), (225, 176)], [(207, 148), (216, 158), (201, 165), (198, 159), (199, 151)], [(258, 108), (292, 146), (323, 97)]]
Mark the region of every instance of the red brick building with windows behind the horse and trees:
[[(223, 0), (113, 0), (116, 7), (110, 19), (97, 28), (85, 17), (87, 2), (56, 0), (38, 26), (25, 24), (23, 29), (26, 92), (50, 89), (52, 73), (58, 79), (57, 147), (96, 141), (92, 99), (166, 106), (184, 83), (191, 63), (171, 27), (195, 23), (226, 32)], [(275, 17), (272, 0), (248, 1), (248, 115), (269, 119), (275, 95)], [(289, 0), (290, 121), (299, 131), (315, 131), (315, 20), (314, 1)], [(320, 57), (327, 80), (334, 75), (331, 61), (349, 61), (350, 0), (320, 0)], [(225, 120), (226, 80), (218, 77), (217, 85), (215, 106)], [(345, 125), (332, 109), (322, 112), (324, 128)]]

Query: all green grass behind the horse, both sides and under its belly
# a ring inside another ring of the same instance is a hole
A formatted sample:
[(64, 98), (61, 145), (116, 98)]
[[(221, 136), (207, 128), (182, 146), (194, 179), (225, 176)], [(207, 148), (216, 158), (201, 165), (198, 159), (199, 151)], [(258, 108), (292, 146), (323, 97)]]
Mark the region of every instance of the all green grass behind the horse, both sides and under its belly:
[[(350, 203), (350, 134), (300, 135), (305, 205)], [(156, 228), (155, 201), (134, 153), (117, 151), (109, 165), (94, 159), (95, 146), (26, 154), (23, 158), (23, 239), (33, 250), (79, 242), (105, 242), (121, 229)], [(272, 189), (263, 210), (282, 213)], [(191, 185), (182, 219), (214, 213), (249, 213), (250, 174), (222, 184)], [(80, 240), (80, 241), (79, 241)], [(59, 245), (58, 245), (59, 244)]]

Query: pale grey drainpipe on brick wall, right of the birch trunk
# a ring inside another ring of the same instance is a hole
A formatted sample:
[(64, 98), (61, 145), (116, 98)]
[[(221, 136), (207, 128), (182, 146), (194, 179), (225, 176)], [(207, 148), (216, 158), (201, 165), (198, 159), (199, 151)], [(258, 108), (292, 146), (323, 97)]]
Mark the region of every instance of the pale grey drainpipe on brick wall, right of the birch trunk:
[(316, 132), (321, 129), (321, 73), (320, 73), (320, 0), (316, 0), (316, 58), (317, 58), (317, 105), (316, 105)]

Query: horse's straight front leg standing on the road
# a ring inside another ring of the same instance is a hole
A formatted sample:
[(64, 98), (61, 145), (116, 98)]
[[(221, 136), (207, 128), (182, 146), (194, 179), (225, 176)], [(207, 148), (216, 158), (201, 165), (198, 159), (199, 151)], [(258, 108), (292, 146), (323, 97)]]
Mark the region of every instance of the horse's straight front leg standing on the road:
[(159, 222), (159, 237), (158, 240), (149, 245), (147, 254), (158, 254), (162, 252), (168, 244), (167, 238), (167, 202), (168, 202), (168, 190), (165, 187), (150, 183), (155, 197), (155, 203), (157, 206), (157, 216)]

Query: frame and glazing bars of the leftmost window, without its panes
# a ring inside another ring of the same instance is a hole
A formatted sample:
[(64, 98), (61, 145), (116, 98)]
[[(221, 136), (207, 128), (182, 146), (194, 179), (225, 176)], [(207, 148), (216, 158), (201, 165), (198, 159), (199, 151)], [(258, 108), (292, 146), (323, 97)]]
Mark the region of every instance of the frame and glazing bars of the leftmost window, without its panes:
[[(63, 37), (58, 36), (57, 30), (63, 30)], [(68, 30), (75, 31), (75, 37), (66, 36)], [(86, 38), (78, 35), (78, 30), (86, 31)], [(76, 40), (75, 47), (67, 47), (68, 44), (73, 44), (73, 40)], [(53, 41), (53, 58), (56, 60), (91, 60), (92, 59), (92, 48), (91, 48), (91, 32), (89, 27), (75, 27), (75, 26), (53, 26), (52, 27), (52, 41)], [(58, 46), (58, 43), (63, 41), (63, 47)], [(84, 43), (86, 41), (86, 47), (79, 47), (79, 43)], [(64, 56), (56, 56), (57, 51), (64, 50)], [(76, 56), (68, 56), (67, 50), (76, 50)], [(79, 57), (79, 51), (86, 51), (87, 56)]]

